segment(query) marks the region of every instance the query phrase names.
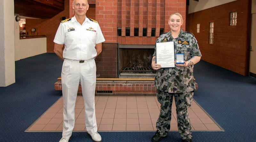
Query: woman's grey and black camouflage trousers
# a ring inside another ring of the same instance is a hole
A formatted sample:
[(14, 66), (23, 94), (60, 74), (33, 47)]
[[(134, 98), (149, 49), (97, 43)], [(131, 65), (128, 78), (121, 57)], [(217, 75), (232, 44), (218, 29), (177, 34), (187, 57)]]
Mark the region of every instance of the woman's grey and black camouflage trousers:
[(188, 107), (193, 100), (193, 92), (168, 93), (157, 90), (157, 100), (161, 104), (160, 115), (156, 122), (157, 131), (166, 136), (171, 128), (172, 100), (175, 100), (178, 129), (182, 139), (191, 139), (191, 123), (188, 117)]

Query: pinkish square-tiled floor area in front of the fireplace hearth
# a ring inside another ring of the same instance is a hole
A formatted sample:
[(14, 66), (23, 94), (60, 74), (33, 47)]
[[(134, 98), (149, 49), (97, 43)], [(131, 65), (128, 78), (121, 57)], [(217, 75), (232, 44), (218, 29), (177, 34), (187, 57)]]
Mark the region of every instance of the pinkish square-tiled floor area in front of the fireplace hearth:
[[(98, 131), (156, 131), (160, 110), (156, 95), (96, 95), (95, 108)], [(175, 109), (173, 102), (171, 131), (178, 131)], [(26, 131), (62, 131), (62, 111), (60, 98)], [(193, 131), (223, 131), (195, 101), (188, 111)], [(76, 98), (75, 118), (73, 131), (86, 131), (81, 95)]]

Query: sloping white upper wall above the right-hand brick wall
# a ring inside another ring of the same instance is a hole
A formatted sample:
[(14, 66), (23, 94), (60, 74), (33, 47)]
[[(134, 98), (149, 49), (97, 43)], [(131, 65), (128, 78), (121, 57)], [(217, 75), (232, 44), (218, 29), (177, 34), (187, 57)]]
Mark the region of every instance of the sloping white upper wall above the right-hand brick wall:
[(212, 8), (218, 5), (227, 4), (236, 0), (189, 0), (188, 14)]

